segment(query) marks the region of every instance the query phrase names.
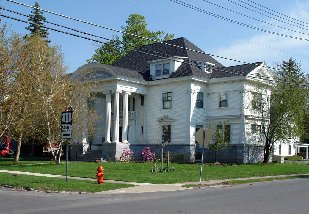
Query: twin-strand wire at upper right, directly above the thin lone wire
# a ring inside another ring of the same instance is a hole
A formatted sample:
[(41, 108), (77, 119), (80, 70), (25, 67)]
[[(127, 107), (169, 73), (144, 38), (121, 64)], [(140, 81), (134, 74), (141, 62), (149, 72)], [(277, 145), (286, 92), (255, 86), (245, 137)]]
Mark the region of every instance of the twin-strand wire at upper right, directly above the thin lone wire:
[(182, 6), (185, 6), (185, 7), (188, 7), (188, 8), (191, 8), (193, 10), (197, 10), (199, 12), (202, 12), (202, 13), (205, 13), (207, 15), (211, 15), (211, 16), (214, 16), (216, 18), (219, 18), (219, 19), (223, 19), (225, 21), (229, 21), (231, 23), (235, 23), (235, 24), (239, 24), (239, 25), (242, 25), (244, 27), (249, 27), (249, 28), (252, 28), (252, 29), (256, 29), (256, 30), (259, 30), (259, 31), (263, 31), (263, 32), (267, 32), (267, 33), (271, 33), (271, 34), (275, 34), (275, 35), (278, 35), (278, 36), (284, 36), (284, 37), (288, 37), (288, 38), (293, 38), (293, 39), (297, 39), (297, 40), (304, 40), (304, 41), (309, 41), (309, 39), (305, 39), (305, 38), (300, 38), (300, 37), (295, 37), (295, 36), (289, 36), (289, 35), (285, 35), (285, 34), (281, 34), (281, 33), (276, 33), (276, 32), (273, 32), (273, 31), (268, 31), (268, 30), (265, 30), (265, 29), (262, 29), (262, 28), (258, 28), (258, 27), (253, 27), (251, 25), (248, 25), (248, 24), (244, 24), (244, 23), (241, 23), (241, 22), (237, 22), (235, 20), (232, 20), (232, 19), (228, 19), (228, 18), (225, 18), (223, 16), (219, 16), (219, 15), (216, 15), (214, 13), (210, 13), (206, 10), (203, 10), (201, 8), (198, 8), (198, 7), (195, 7), (195, 6), (192, 6), (190, 4), (187, 4), (187, 3), (184, 3), (184, 2), (181, 2), (179, 0), (170, 0), (171, 2), (175, 2), (177, 4), (180, 4)]

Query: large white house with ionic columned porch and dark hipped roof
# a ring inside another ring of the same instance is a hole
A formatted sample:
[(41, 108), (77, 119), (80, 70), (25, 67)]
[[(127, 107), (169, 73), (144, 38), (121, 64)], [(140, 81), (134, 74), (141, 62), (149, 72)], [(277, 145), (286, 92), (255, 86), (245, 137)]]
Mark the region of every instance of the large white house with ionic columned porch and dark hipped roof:
[[(89, 102), (101, 116), (93, 136), (82, 133), (71, 143), (72, 157), (91, 141), (91, 150), (101, 154), (96, 159), (115, 160), (128, 147), (138, 160), (145, 146), (159, 158), (165, 130), (164, 152), (184, 153), (185, 161), (194, 162), (201, 160), (196, 131), (220, 120), (228, 121), (232, 147), (218, 153), (218, 161), (263, 160), (261, 121), (248, 100), (256, 99), (252, 77), (273, 75), (265, 62), (224, 67), (185, 38), (136, 50), (111, 65), (89, 63), (72, 74), (78, 78), (86, 70), (99, 84)], [(205, 159), (212, 161), (214, 154), (207, 151)]]

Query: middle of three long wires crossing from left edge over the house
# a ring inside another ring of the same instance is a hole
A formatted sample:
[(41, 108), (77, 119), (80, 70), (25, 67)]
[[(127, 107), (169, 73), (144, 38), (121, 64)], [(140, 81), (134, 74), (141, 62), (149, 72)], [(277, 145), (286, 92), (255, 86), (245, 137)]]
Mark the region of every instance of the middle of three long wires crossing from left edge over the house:
[[(97, 35), (94, 35), (94, 34), (89, 34), (89, 33), (86, 33), (86, 32), (84, 32), (84, 31), (76, 30), (76, 29), (74, 29), (74, 28), (66, 27), (66, 26), (63, 26), (63, 25), (60, 25), (60, 24), (57, 24), (57, 23), (52, 23), (52, 22), (49, 22), (49, 21), (46, 21), (46, 20), (38, 19), (38, 18), (29, 16), (29, 15), (25, 15), (25, 14), (16, 12), (16, 11), (12, 11), (12, 10), (9, 10), (9, 9), (5, 9), (5, 8), (2, 8), (2, 7), (0, 7), (0, 9), (6, 10), (6, 11), (9, 11), (9, 12), (18, 14), (18, 15), (23, 15), (23, 16), (26, 16), (26, 17), (28, 17), (28, 18), (33, 18), (33, 19), (36, 19), (36, 20), (38, 20), (38, 21), (42, 21), (42, 22), (44, 21), (45, 23), (53, 24), (53, 25), (56, 25), (56, 26), (58, 26), (58, 27), (64, 27), (64, 28), (66, 28), (66, 29), (73, 30), (73, 31), (76, 31), (76, 32), (79, 32), (79, 33), (83, 33), (83, 34), (87, 34), (87, 35), (89, 35), (89, 36), (94, 36), (94, 37), (98, 37), (98, 38), (100, 38), (100, 39), (110, 40), (110, 41), (116, 42), (116, 43), (118, 43), (118, 44), (127, 45), (127, 46), (131, 46), (131, 47), (134, 47), (134, 48), (142, 49), (142, 50), (144, 50), (144, 51), (154, 52), (154, 53), (156, 53), (156, 54), (162, 54), (162, 55), (165, 55), (165, 56), (167, 56), (167, 57), (173, 57), (173, 58), (182, 60), (182, 58), (180, 58), (180, 57), (174, 57), (174, 56), (172, 56), (172, 55), (168, 55), (168, 54), (165, 54), (165, 53), (156, 52), (156, 51), (149, 50), (149, 49), (146, 49), (146, 48), (142, 48), (142, 47), (137, 47), (137, 46), (134, 46), (134, 45), (126, 44), (126, 43), (123, 43), (123, 42), (120, 42), (120, 41), (116, 41), (116, 40), (112, 40), (112, 39), (107, 39), (107, 38), (104, 38), (104, 37), (102, 37), (102, 36), (97, 36)], [(41, 25), (37, 25), (37, 26), (41, 26)], [(109, 43), (108, 43), (108, 44), (109, 44)], [(196, 64), (196, 62), (193, 61), (193, 60), (187, 60), (187, 59), (186, 59), (186, 61), (187, 61), (187, 62), (190, 62), (190, 65), (198, 66), (198, 65)], [(201, 63), (201, 64), (203, 64), (203, 63)], [(206, 64), (204, 64), (204, 65), (206, 65)], [(218, 69), (225, 69), (225, 70), (226, 70), (226, 68), (221, 68), (221, 67), (218, 67), (218, 66), (213, 66), (213, 67), (217, 68), (217, 70), (218, 70)], [(231, 67), (231, 66), (230, 66), (230, 67)], [(229, 71), (232, 71), (232, 72), (243, 73), (243, 74), (246, 74), (246, 75), (248, 74), (248, 73), (246, 73), (246, 72), (241, 72), (241, 71), (237, 71), (237, 70), (232, 70), (232, 69), (228, 69), (228, 70), (229, 70)], [(270, 78), (270, 77), (267, 77), (267, 76), (260, 76), (260, 77), (263, 77), (263, 78)], [(293, 81), (293, 80), (286, 80), (286, 79), (279, 79), (279, 78), (271, 78), (271, 79), (282, 80), (282, 81), (289, 81), (289, 82), (298, 82), (298, 83), (307, 84), (306, 82)]]

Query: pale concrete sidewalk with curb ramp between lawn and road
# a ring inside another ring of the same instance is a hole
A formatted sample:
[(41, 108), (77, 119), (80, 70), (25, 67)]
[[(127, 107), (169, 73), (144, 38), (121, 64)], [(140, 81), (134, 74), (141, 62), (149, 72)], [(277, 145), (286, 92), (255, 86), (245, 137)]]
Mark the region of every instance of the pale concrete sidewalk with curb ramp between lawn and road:
[[(6, 172), (6, 173), (12, 173), (12, 174), (13, 173), (27, 174), (27, 175), (45, 176), (45, 177), (55, 177), (55, 178), (66, 178), (65, 175), (18, 172), (18, 171), (11, 171), (11, 170), (0, 170), (0, 172)], [(309, 175), (309, 173), (262, 176), (262, 177), (252, 177), (252, 178), (231, 178), (231, 179), (222, 179), (222, 180), (202, 181), (201, 183), (203, 185), (216, 185), (217, 184), (217, 186), (222, 186), (222, 183), (226, 182), (226, 181), (247, 180), (247, 179), (256, 179), (256, 178), (278, 178), (278, 177), (288, 177), (288, 176), (295, 176), (295, 175)], [(67, 178), (78, 179), (78, 180), (87, 180), (87, 181), (97, 181), (97, 179), (95, 179), (95, 178), (79, 178), (79, 177), (72, 177), (72, 176), (67, 176)], [(113, 181), (113, 180), (106, 180), (106, 179), (104, 179), (104, 183), (127, 183), (127, 184), (134, 184), (136, 186), (135, 187), (122, 188), (122, 189), (116, 189), (116, 190), (108, 190), (108, 191), (103, 191), (103, 192), (95, 192), (93, 194), (125, 194), (125, 193), (187, 190), (187, 189), (193, 189), (194, 187), (188, 188), (188, 187), (181, 187), (181, 186), (183, 186), (184, 184), (197, 184), (197, 185), (200, 184), (199, 181), (197, 181), (197, 182), (185, 182), (185, 183), (171, 183), (171, 184), (156, 184), (156, 183), (134, 183), (134, 182), (126, 182), (126, 181)]]

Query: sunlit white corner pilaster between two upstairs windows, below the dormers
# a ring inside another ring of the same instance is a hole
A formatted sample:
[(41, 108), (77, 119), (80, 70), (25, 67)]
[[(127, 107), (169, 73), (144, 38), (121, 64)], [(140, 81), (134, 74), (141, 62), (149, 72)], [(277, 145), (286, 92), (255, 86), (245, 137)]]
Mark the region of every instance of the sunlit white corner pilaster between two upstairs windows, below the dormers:
[[(191, 87), (191, 84), (189, 85), (189, 87)], [(192, 89), (188, 89), (186, 90), (186, 94), (188, 94), (187, 96), (187, 139), (186, 139), (186, 143), (193, 143), (193, 132), (192, 132), (192, 128), (193, 124), (192, 122), (192, 115), (193, 115), (193, 94), (195, 94), (196, 91), (192, 90)]]

